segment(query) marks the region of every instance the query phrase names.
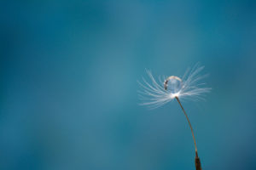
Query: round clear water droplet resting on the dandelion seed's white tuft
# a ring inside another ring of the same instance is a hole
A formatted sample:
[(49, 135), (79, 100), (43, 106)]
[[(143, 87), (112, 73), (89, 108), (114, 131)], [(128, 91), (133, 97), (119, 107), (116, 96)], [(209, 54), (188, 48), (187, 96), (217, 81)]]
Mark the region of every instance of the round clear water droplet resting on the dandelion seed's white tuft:
[(179, 77), (168, 77), (165, 82), (165, 88), (171, 94), (177, 94), (183, 86), (183, 82)]

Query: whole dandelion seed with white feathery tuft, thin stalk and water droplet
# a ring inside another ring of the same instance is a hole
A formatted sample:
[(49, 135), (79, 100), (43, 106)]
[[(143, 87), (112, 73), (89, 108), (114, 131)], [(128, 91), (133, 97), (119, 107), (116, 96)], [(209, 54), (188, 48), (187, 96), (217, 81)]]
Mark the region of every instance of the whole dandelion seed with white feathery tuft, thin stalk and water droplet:
[[(177, 99), (178, 104), (182, 108), (183, 113), (189, 122), (189, 117), (184, 110), (180, 99), (203, 99), (202, 95), (210, 92), (211, 88), (204, 88), (202, 86), (205, 85), (205, 83), (200, 83), (201, 79), (207, 77), (207, 75), (199, 75), (203, 69), (204, 66), (199, 66), (197, 64), (191, 71), (188, 69), (183, 78), (171, 76), (162, 77), (164, 78), (163, 80), (159, 77), (159, 82), (155, 80), (151, 71), (147, 71), (151, 83), (147, 82), (144, 78), (143, 83), (138, 82), (143, 88), (143, 91), (139, 91), (139, 97), (143, 100), (141, 105), (148, 105), (149, 108), (154, 109), (165, 105), (173, 99)], [(201, 161), (197, 153), (195, 134), (190, 122), (189, 127), (195, 144), (195, 168), (196, 170), (201, 170)]]

